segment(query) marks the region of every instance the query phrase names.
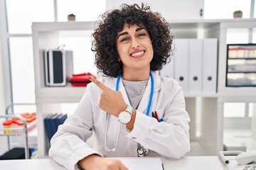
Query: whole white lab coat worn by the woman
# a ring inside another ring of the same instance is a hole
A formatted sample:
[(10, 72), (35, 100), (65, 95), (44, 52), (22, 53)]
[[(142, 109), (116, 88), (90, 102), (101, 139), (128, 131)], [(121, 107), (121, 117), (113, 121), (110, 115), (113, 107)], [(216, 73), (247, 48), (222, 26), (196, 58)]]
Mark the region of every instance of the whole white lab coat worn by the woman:
[[(75, 113), (70, 115), (63, 125), (60, 125), (50, 141), (49, 156), (67, 169), (75, 169), (78, 161), (90, 154), (103, 157), (137, 157), (137, 143), (150, 150), (147, 156), (162, 156), (169, 159), (179, 159), (190, 150), (189, 126), (190, 118), (185, 109), (183, 91), (177, 81), (167, 77), (160, 77), (152, 72), (154, 77), (154, 95), (151, 111), (157, 111), (161, 123), (155, 118), (145, 115), (149, 103), (151, 80), (146, 86), (142, 101), (137, 108), (134, 129), (129, 132), (125, 125), (121, 125), (119, 143), (116, 152), (105, 150), (105, 129), (107, 113), (99, 106), (101, 89), (95, 84), (87, 85), (84, 96)], [(115, 90), (117, 78), (104, 77), (100, 79), (110, 89)], [(129, 104), (127, 93), (119, 82), (124, 101)], [(107, 130), (107, 147), (112, 149), (116, 145), (119, 121), (110, 115)], [(95, 135), (95, 145), (90, 148), (85, 142)]]

